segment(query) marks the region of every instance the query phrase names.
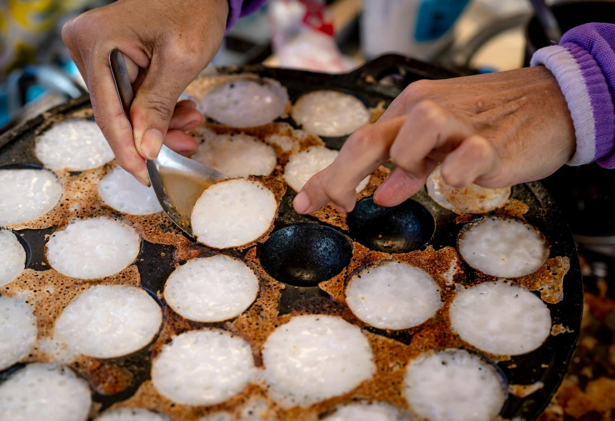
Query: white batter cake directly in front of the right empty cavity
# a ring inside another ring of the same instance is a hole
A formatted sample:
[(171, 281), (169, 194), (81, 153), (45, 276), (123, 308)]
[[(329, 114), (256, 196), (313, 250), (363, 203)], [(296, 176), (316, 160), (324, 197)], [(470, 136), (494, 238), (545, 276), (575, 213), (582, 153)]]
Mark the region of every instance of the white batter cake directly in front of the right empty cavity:
[(380, 329), (418, 326), (442, 307), (440, 287), (423, 269), (391, 262), (355, 275), (346, 303), (363, 322)]

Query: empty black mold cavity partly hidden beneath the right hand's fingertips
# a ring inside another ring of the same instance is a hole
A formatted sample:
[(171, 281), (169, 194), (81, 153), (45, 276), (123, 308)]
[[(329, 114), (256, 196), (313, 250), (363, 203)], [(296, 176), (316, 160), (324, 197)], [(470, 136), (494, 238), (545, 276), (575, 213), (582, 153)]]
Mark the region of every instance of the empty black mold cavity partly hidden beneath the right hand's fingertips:
[(432, 238), (435, 220), (422, 204), (408, 199), (394, 207), (378, 206), (365, 198), (348, 214), (349, 235), (371, 250), (406, 253)]

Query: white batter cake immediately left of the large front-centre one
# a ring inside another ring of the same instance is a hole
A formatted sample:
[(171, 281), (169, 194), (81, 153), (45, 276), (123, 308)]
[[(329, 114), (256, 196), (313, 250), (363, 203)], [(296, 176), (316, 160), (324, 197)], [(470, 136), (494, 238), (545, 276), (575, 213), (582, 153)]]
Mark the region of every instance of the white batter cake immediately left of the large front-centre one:
[(248, 342), (220, 329), (182, 333), (152, 363), (152, 383), (162, 395), (186, 405), (224, 402), (255, 376)]

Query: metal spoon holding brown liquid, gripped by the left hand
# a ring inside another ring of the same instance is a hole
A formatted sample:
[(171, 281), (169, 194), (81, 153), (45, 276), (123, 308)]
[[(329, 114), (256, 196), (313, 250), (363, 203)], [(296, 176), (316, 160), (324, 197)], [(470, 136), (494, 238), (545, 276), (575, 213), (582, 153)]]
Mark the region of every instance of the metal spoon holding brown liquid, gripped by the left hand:
[[(130, 104), (135, 97), (126, 71), (124, 56), (119, 50), (109, 53), (109, 64), (124, 116), (130, 124)], [(132, 125), (130, 128), (132, 129)], [(181, 156), (164, 145), (158, 157), (153, 161), (146, 161), (146, 164), (149, 181), (165, 214), (192, 237), (190, 216), (194, 203), (205, 188), (228, 177), (213, 168)]]

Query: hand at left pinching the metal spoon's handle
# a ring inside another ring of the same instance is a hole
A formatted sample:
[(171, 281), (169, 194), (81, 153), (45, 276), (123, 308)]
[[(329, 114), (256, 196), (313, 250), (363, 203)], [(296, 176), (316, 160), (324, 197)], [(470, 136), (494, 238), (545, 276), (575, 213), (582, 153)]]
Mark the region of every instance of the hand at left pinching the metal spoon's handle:
[[(196, 151), (196, 142), (184, 132), (202, 115), (194, 102), (176, 102), (220, 48), (227, 15), (226, 0), (120, 0), (73, 18), (62, 29), (117, 163), (145, 185), (145, 160), (156, 158), (163, 140), (177, 152)], [(136, 90), (130, 107), (134, 133), (109, 68), (109, 52), (116, 48)]]

